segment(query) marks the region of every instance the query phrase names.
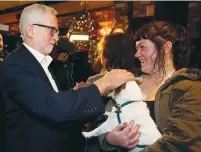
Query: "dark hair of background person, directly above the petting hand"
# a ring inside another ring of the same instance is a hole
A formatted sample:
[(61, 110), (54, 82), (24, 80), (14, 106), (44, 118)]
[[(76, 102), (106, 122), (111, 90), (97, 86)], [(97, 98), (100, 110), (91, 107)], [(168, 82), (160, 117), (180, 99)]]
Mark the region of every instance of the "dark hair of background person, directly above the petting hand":
[(126, 34), (116, 33), (106, 36), (102, 43), (102, 56), (106, 59), (107, 70), (118, 68), (135, 72), (134, 46)]

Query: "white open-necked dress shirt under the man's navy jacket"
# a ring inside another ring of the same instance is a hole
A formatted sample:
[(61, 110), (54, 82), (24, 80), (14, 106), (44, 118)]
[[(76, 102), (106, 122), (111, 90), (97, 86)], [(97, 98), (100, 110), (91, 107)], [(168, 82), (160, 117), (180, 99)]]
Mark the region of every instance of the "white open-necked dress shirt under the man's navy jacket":
[(33, 56), (36, 58), (36, 60), (43, 67), (43, 70), (45, 71), (54, 91), (59, 92), (57, 85), (56, 85), (54, 79), (52, 78), (52, 75), (48, 69), (48, 66), (50, 65), (50, 63), (53, 60), (52, 57), (49, 55), (47, 55), (47, 56), (43, 55), (42, 53), (40, 53), (39, 51), (36, 51), (35, 49), (31, 48), (30, 46), (28, 46), (25, 43), (23, 43), (23, 45), (31, 52), (31, 54), (33, 54)]

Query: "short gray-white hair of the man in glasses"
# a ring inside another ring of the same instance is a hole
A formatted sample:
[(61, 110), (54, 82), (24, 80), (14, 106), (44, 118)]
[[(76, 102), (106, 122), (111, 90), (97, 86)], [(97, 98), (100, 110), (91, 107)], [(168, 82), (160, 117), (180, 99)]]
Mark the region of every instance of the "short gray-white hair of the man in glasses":
[(32, 4), (24, 8), (20, 17), (20, 32), (22, 38), (25, 36), (27, 25), (36, 23), (42, 24), (45, 20), (44, 15), (46, 13), (51, 13), (53, 15), (58, 14), (54, 8), (43, 4)]

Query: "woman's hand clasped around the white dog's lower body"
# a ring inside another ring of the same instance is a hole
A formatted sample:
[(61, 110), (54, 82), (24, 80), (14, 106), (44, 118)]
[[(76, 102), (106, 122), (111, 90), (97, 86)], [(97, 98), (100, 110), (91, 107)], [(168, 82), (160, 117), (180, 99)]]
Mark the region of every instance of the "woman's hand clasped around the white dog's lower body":
[(134, 121), (129, 124), (122, 123), (115, 127), (106, 137), (110, 145), (117, 147), (132, 149), (139, 142), (139, 125), (135, 125)]

